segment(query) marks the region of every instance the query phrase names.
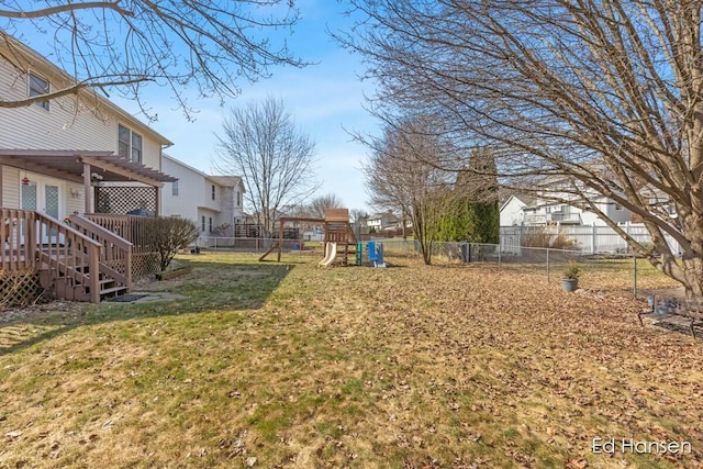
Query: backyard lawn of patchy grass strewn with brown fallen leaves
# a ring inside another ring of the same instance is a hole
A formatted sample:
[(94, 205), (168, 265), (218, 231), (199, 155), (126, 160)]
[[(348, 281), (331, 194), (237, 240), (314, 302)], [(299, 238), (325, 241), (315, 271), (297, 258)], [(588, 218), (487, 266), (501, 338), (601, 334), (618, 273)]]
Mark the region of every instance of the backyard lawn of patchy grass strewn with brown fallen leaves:
[(627, 268), (565, 293), (412, 257), (180, 259), (192, 273), (148, 289), (186, 299), (0, 323), (1, 469), (703, 466), (703, 342), (641, 328), (644, 301), (611, 294)]

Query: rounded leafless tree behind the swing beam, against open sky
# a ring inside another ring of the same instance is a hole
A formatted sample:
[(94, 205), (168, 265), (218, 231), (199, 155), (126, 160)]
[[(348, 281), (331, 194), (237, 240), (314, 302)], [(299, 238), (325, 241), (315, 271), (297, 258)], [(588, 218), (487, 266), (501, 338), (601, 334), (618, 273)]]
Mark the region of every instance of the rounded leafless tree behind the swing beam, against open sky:
[(217, 135), (224, 174), (241, 175), (257, 223), (268, 237), (284, 208), (300, 204), (313, 193), (315, 143), (295, 129), (282, 100), (268, 98), (231, 110)]

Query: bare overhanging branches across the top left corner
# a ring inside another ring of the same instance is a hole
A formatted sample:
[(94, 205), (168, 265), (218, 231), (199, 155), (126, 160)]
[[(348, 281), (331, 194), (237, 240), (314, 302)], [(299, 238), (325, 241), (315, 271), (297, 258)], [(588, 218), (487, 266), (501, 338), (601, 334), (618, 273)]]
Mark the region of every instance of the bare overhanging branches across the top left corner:
[[(22, 68), (32, 52), (27, 42), (71, 79), (47, 93), (0, 107), (24, 107), (75, 94), (81, 89), (116, 91), (142, 110), (143, 88), (155, 82), (171, 89), (190, 116), (185, 90), (221, 99), (238, 94), (237, 80), (256, 81), (272, 65), (304, 65), (293, 58), (276, 31), (292, 27), (299, 14), (293, 0), (45, 0), (0, 2), (3, 58)], [(278, 33), (280, 37), (282, 32)]]

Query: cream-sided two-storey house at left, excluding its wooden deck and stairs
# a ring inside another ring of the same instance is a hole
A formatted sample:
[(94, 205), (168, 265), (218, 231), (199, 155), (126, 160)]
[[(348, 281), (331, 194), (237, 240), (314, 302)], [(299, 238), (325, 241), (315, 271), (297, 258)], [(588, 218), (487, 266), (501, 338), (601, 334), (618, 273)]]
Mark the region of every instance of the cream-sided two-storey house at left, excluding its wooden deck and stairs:
[[(7, 43), (0, 44), (0, 49), (3, 47), (7, 47)], [(33, 51), (19, 43), (13, 47), (13, 54), (0, 51), (0, 57), (3, 57), (0, 58), (2, 100), (23, 100), (70, 83), (70, 77)], [(4, 57), (23, 57), (25, 62), (19, 59), (19, 63), (10, 64)], [(114, 161), (111, 158), (124, 152), (121, 142), (121, 134), (124, 133), (121, 131), (124, 129), (130, 133), (129, 159), (143, 166), (107, 163), (109, 159)], [(159, 172), (161, 148), (170, 144), (167, 138), (90, 90), (23, 108), (0, 108), (0, 206), (35, 206), (38, 211), (62, 219), (74, 212), (97, 211), (93, 188), (121, 183), (156, 190), (154, 204), (158, 206), (158, 188), (163, 180), (168, 180), (166, 175)], [(76, 158), (70, 160), (74, 154)], [(76, 165), (78, 158), (91, 161), (92, 180), (83, 178), (82, 167)], [(72, 166), (70, 171), (66, 170), (67, 165)], [(118, 196), (112, 199), (118, 210), (112, 213), (130, 210), (129, 203), (118, 203)]]

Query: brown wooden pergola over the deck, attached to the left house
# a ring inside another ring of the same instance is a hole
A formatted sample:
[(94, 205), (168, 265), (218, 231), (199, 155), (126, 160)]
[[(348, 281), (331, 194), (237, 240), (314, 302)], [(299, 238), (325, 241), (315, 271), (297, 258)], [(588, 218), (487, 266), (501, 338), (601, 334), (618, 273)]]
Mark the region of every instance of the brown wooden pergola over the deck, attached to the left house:
[[(160, 212), (160, 188), (177, 178), (113, 152), (0, 149), (0, 164), (83, 185), (85, 212), (96, 212), (92, 188), (100, 182), (141, 182), (154, 188), (155, 212)], [(93, 179), (94, 178), (94, 179)]]

